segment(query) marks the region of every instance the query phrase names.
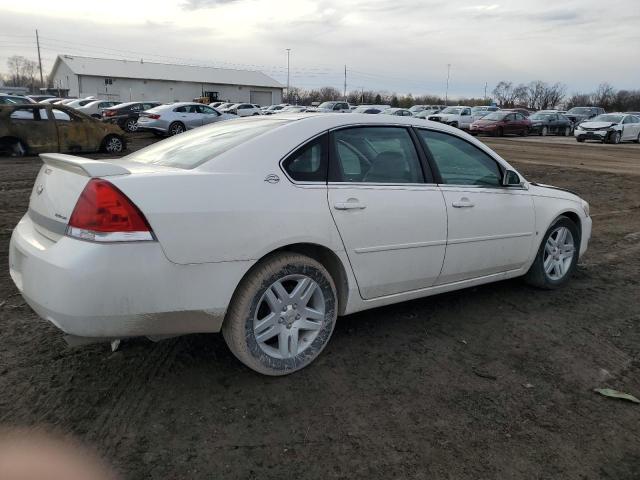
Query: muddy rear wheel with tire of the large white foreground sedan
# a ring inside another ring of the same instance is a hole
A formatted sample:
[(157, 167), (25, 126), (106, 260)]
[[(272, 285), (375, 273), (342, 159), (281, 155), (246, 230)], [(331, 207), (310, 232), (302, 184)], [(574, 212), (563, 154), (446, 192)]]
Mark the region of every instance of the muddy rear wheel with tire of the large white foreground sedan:
[(247, 367), (265, 375), (287, 375), (322, 352), (336, 317), (336, 287), (329, 272), (307, 256), (276, 253), (242, 280), (222, 334)]

